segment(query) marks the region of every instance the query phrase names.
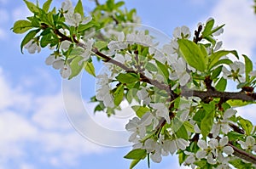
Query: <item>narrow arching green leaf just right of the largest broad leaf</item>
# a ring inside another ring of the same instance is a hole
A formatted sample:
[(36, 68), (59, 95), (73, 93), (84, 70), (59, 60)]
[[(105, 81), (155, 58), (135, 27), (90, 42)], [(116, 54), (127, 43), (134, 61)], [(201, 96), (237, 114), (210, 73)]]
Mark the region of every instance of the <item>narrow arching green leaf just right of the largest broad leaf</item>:
[(236, 56), (237, 59), (239, 59), (239, 56), (236, 52), (236, 50), (219, 50), (215, 53), (212, 53), (210, 56), (209, 56), (209, 66), (208, 66), (208, 69), (211, 70), (213, 65), (215, 65), (218, 60), (227, 55), (227, 54), (234, 54)]

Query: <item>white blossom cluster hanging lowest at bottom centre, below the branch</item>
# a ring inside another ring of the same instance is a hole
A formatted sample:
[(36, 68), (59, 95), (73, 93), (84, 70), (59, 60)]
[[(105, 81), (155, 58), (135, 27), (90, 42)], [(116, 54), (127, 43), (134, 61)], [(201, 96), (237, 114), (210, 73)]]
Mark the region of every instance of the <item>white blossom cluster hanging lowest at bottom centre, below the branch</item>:
[(158, 125), (159, 121), (156, 114), (153, 115), (153, 113), (148, 112), (143, 115), (142, 119), (134, 117), (126, 124), (125, 128), (129, 132), (133, 132), (129, 138), (130, 142), (135, 143), (133, 149), (146, 149), (152, 161), (160, 162), (162, 155), (166, 156), (169, 153), (173, 155), (178, 149), (186, 149), (189, 146), (189, 141), (183, 138), (160, 138), (159, 140), (148, 138), (143, 142), (143, 138), (146, 137), (147, 127), (153, 124), (154, 128)]

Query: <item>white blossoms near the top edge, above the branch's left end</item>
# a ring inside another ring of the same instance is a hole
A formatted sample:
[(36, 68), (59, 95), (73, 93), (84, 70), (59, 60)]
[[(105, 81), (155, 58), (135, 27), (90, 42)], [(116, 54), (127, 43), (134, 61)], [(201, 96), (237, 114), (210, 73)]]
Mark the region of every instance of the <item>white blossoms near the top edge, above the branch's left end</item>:
[[(84, 17), (79, 13), (74, 13), (74, 8), (70, 0), (61, 3), (61, 8), (65, 12), (64, 18), (68, 25), (79, 26), (79, 24), (87, 24), (92, 19), (91, 16)], [(67, 13), (66, 13), (67, 12)]]

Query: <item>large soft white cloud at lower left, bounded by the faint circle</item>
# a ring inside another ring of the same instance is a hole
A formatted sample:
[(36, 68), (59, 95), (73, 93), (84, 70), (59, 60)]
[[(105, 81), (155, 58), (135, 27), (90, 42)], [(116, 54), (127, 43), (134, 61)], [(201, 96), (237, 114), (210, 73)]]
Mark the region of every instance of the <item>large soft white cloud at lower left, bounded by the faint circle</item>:
[[(0, 168), (26, 163), (29, 152), (41, 152), (39, 162), (75, 165), (81, 155), (108, 151), (82, 138), (67, 120), (61, 93), (34, 95), (7, 80), (0, 69)], [(37, 145), (33, 147), (32, 145)], [(33, 148), (32, 148), (32, 147)]]

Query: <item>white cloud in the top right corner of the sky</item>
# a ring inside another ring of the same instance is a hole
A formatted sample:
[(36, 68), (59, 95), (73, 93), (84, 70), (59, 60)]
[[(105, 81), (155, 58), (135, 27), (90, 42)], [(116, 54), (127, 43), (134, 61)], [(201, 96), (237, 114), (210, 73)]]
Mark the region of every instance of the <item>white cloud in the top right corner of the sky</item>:
[(252, 56), (256, 47), (256, 17), (251, 0), (222, 0), (212, 8), (212, 17), (219, 25), (225, 24), (223, 39), (224, 48), (237, 49), (239, 54)]

